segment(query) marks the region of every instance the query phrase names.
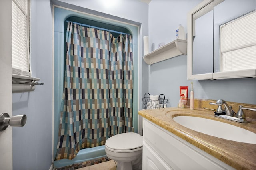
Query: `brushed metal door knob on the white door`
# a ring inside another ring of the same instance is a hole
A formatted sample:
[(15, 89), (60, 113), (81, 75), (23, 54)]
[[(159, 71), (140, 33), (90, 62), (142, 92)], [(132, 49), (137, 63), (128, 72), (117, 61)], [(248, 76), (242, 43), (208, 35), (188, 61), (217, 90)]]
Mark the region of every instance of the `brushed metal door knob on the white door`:
[(5, 130), (9, 125), (12, 127), (23, 127), (26, 124), (26, 115), (17, 115), (10, 117), (8, 113), (0, 115), (0, 131)]

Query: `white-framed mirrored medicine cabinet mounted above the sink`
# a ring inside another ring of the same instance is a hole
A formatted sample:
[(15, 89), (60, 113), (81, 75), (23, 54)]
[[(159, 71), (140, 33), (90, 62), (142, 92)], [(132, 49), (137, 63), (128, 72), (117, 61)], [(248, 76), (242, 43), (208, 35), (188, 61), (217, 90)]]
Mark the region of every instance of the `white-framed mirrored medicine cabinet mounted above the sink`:
[(256, 77), (256, 0), (204, 0), (188, 13), (188, 79)]

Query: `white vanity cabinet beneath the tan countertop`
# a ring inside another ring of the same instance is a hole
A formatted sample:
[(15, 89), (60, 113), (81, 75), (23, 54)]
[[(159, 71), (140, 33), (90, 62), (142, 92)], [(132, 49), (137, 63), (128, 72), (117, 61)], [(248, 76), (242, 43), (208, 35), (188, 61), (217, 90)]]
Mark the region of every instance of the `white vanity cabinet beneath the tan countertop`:
[(143, 169), (234, 169), (143, 118)]

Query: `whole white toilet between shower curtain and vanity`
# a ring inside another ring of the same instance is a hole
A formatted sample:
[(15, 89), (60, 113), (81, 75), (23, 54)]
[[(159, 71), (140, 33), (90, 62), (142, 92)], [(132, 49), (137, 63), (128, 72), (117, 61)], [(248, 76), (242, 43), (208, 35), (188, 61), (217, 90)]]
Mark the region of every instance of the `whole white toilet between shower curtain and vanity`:
[(117, 162), (117, 170), (142, 170), (142, 140), (142, 136), (133, 132), (106, 140), (106, 155)]

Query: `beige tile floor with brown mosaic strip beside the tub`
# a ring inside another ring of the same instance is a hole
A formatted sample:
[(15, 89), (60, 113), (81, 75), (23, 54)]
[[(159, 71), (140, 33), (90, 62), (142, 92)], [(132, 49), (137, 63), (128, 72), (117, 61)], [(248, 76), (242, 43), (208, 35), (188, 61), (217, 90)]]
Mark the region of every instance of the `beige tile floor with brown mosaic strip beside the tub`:
[(116, 170), (116, 162), (108, 157), (57, 168), (55, 170)]

